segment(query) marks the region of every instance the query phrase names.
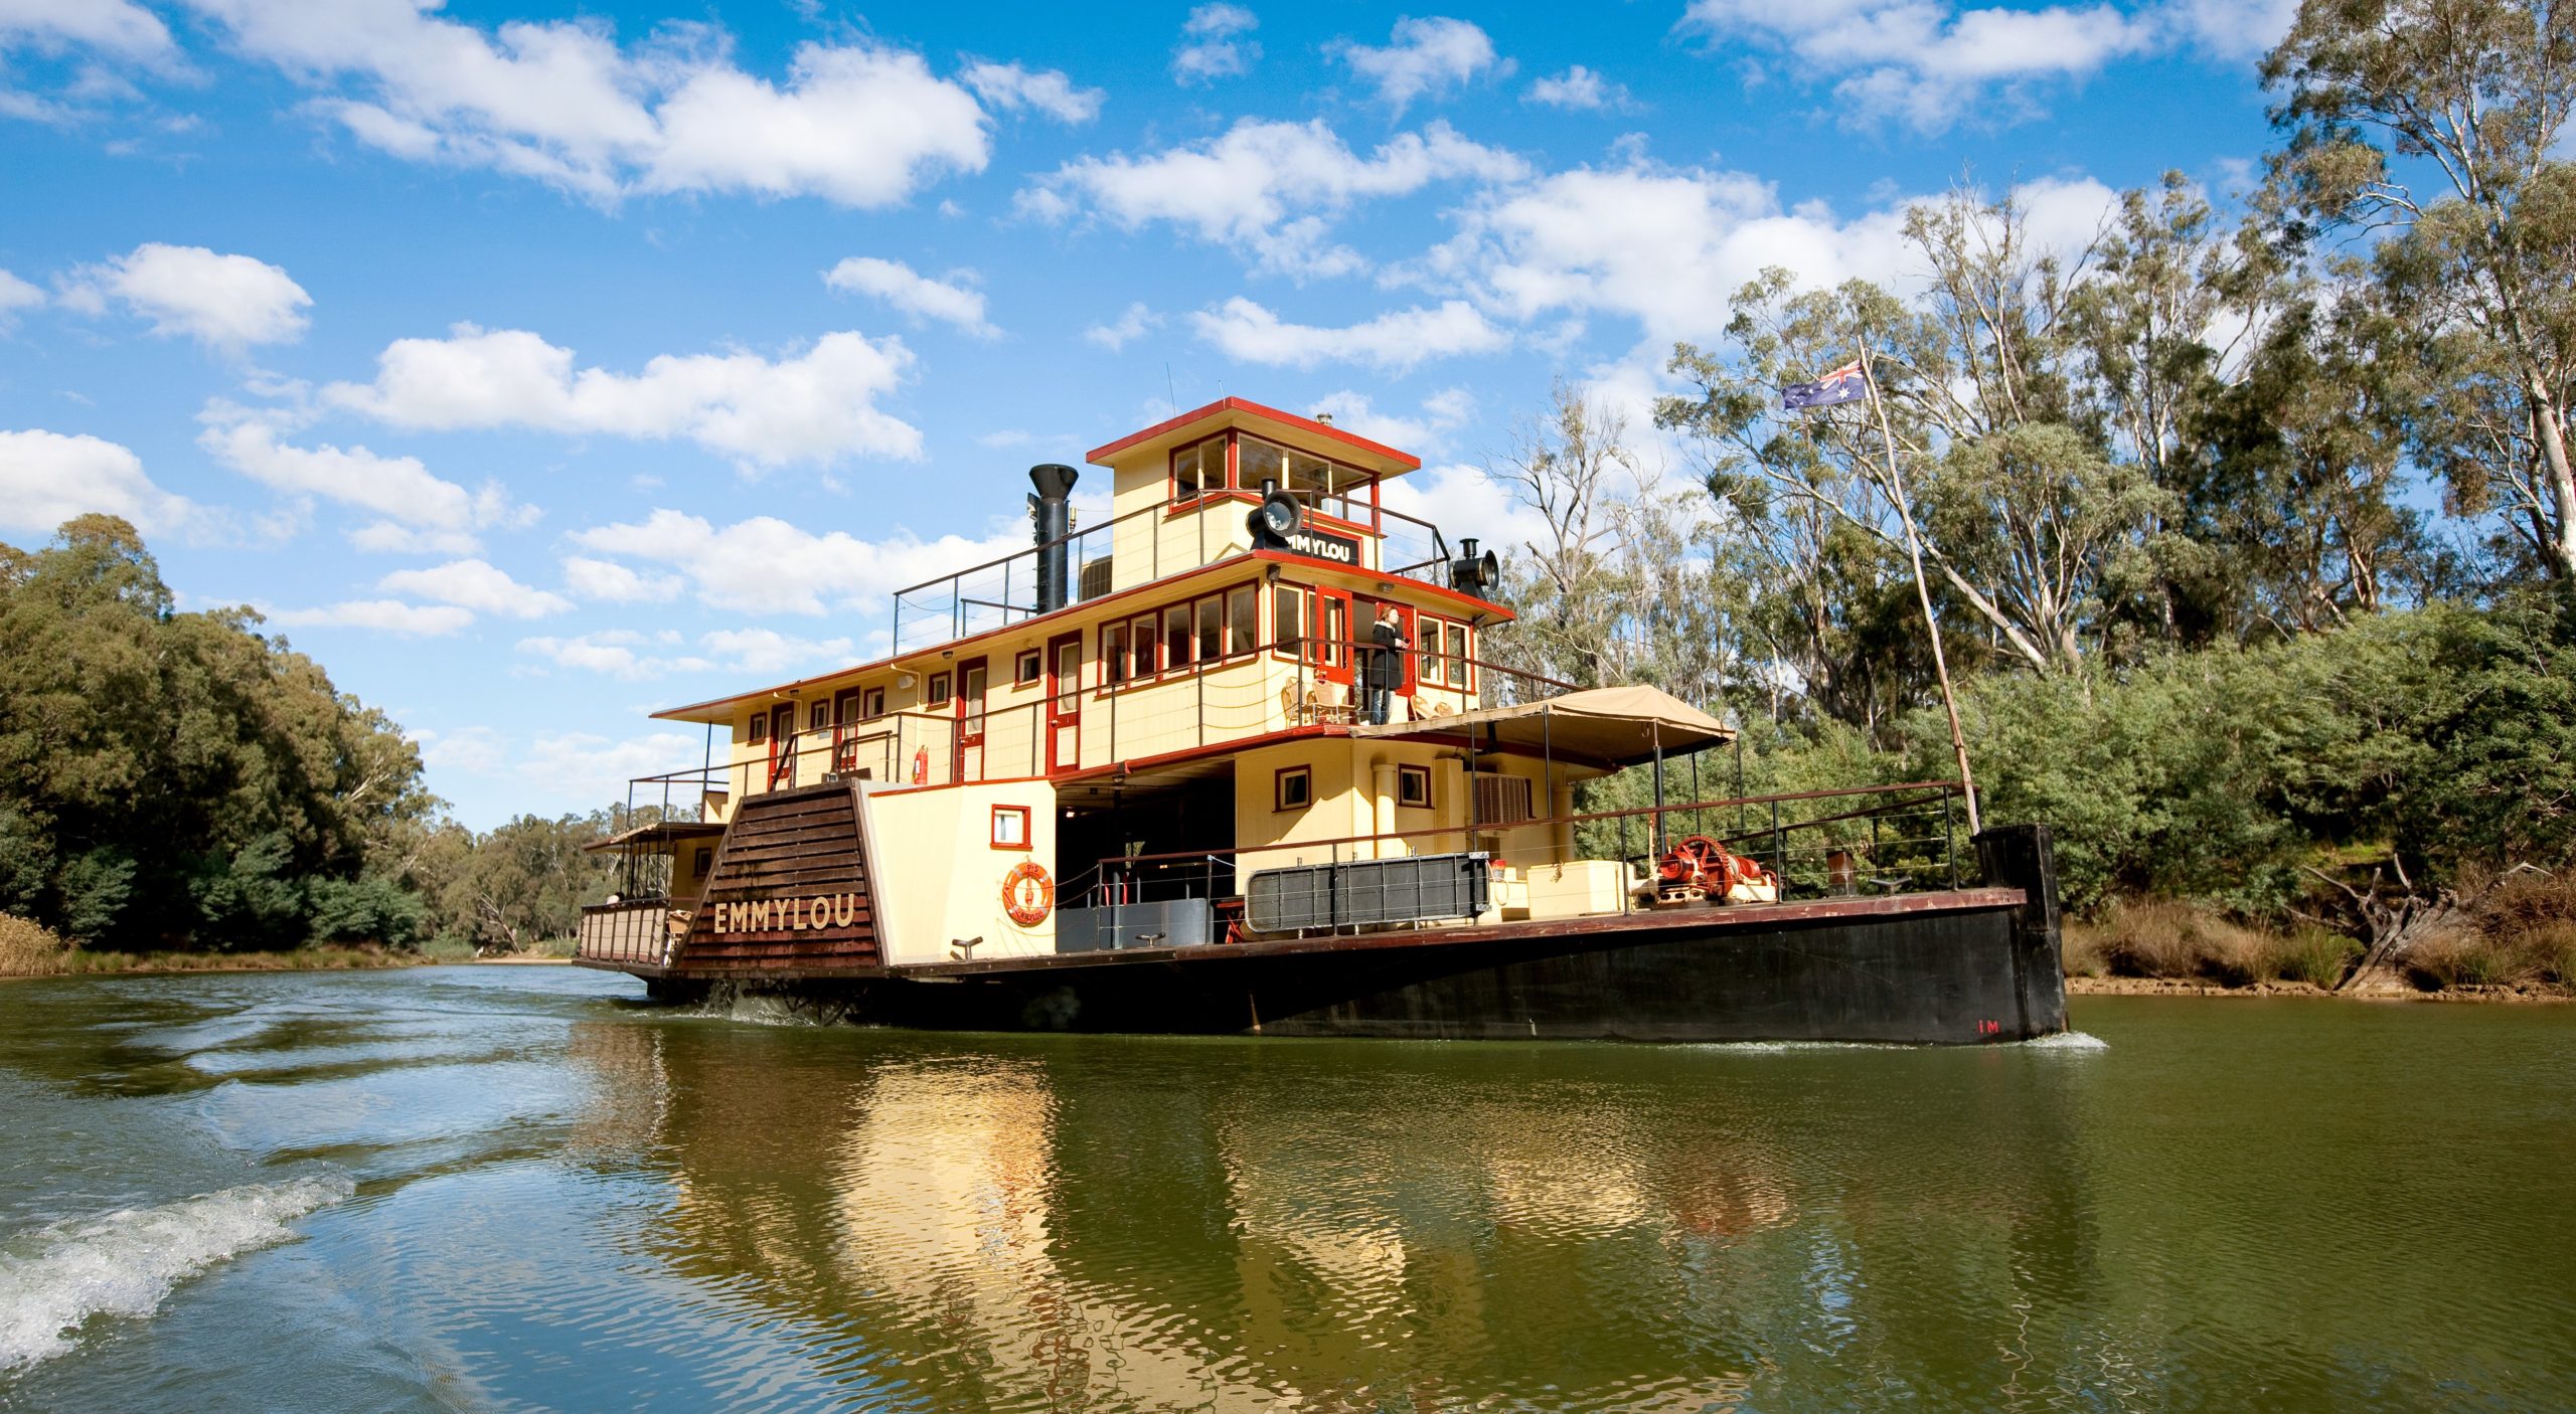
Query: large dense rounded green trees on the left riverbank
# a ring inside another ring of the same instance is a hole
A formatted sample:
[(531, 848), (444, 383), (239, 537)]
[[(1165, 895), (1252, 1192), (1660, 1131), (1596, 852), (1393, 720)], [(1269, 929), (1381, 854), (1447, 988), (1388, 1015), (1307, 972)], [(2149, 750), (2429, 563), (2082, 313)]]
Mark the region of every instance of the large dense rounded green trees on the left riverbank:
[(0, 907), (98, 945), (278, 948), (435, 806), (420, 752), (131, 525), (0, 554)]

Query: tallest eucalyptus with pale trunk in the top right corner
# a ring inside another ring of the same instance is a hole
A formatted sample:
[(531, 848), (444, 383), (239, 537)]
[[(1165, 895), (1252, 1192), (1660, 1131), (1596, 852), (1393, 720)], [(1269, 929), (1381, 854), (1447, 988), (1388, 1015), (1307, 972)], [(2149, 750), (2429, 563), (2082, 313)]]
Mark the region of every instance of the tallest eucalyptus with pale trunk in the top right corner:
[(2269, 198), (2362, 232), (2432, 376), (2419, 456), (2576, 580), (2576, 0), (2303, 0), (2264, 59)]

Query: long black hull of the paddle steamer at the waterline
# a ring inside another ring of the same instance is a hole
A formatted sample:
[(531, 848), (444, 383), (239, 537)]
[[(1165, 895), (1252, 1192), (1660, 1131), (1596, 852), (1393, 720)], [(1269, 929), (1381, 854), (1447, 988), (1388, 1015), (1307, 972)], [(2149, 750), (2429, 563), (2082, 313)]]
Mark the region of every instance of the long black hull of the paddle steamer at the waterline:
[(652, 976), (933, 1030), (1406, 1041), (1989, 1043), (2066, 1030), (2045, 834), (1978, 840), (1999, 889), (1631, 914), (1592, 925), (933, 963), (871, 976)]

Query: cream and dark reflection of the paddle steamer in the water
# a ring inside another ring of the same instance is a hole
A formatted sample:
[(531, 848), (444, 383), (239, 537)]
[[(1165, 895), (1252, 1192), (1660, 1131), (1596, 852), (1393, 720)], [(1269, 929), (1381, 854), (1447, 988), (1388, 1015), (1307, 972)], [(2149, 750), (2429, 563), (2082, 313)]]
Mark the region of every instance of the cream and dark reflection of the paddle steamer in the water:
[(2089, 1259), (2027, 1092), (1950, 1071), (1880, 1156), (1847, 1126), (1896, 1056), (1747, 1105), (1548, 1053), (623, 1020), (574, 1064), (621, 1115), (585, 1126), (654, 1128), (618, 1146), (667, 1190), (644, 1252), (894, 1406), (1726, 1406), (1937, 1365), (1958, 1321), (2027, 1344)]

